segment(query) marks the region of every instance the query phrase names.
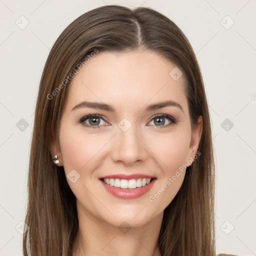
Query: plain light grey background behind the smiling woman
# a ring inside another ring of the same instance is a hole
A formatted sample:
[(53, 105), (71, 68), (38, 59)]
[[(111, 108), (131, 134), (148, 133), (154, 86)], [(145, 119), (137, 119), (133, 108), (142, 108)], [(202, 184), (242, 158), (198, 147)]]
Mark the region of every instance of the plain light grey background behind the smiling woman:
[(0, 255), (22, 255), (34, 107), (49, 49), (71, 21), (105, 4), (152, 7), (188, 37), (212, 121), (216, 252), (255, 255), (256, 0), (0, 0)]

